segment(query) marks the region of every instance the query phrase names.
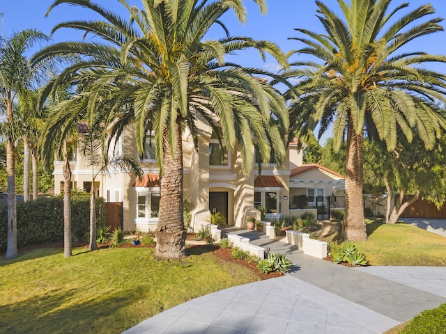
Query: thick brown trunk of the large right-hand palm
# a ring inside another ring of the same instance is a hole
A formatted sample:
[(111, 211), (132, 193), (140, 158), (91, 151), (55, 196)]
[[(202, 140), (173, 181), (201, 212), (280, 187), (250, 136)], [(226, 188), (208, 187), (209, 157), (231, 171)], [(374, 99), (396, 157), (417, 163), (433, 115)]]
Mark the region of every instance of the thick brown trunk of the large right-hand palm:
[(362, 200), (363, 134), (356, 134), (351, 120), (347, 130), (346, 215), (343, 221), (347, 240), (367, 240)]

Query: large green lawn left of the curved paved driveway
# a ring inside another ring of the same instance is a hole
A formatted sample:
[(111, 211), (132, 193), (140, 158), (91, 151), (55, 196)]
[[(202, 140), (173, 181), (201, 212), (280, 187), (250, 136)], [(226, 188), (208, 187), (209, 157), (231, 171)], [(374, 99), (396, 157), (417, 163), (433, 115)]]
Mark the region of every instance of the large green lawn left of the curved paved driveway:
[(259, 280), (249, 269), (190, 248), (180, 261), (154, 248), (32, 250), (0, 261), (0, 333), (121, 333), (162, 310)]

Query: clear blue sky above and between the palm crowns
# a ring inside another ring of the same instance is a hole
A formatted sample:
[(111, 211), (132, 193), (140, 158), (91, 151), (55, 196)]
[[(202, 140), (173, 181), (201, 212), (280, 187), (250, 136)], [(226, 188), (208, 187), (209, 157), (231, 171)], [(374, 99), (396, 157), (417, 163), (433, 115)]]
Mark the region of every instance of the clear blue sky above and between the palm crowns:
[[(102, 6), (106, 6), (115, 13), (118, 13), (121, 5), (116, 0), (95, 0)], [(139, 5), (140, 0), (128, 0), (134, 5)], [(52, 27), (63, 21), (70, 19), (89, 19), (91, 15), (81, 8), (61, 5), (52, 10), (49, 17), (45, 17), (47, 8), (52, 0), (0, 0), (0, 13), (3, 13), (4, 28), (6, 36), (15, 31), (28, 28), (36, 28), (43, 33), (49, 33)], [(304, 28), (316, 32), (323, 32), (321, 23), (316, 17), (316, 4), (314, 0), (267, 0), (268, 13), (263, 16), (256, 8), (254, 1), (245, 0), (247, 7), (248, 22), (244, 26), (239, 24), (235, 15), (228, 13), (224, 17), (224, 23), (228, 26), (231, 35), (245, 35), (259, 40), (270, 40), (277, 43), (283, 51), (288, 52), (299, 49), (301, 45), (289, 37), (298, 36), (295, 28)], [(339, 13), (337, 1), (323, 0), (330, 8)], [(409, 10), (421, 6), (423, 3), (431, 3), (436, 9), (436, 15), (432, 17), (446, 17), (446, 0), (393, 0), (391, 8), (395, 8), (403, 2), (409, 2), (409, 8), (401, 13), (408, 13)], [(123, 12), (124, 13), (124, 12)], [(445, 23), (443, 22), (443, 26)], [(221, 29), (212, 32), (211, 37), (219, 38), (223, 35)], [(69, 29), (62, 29), (54, 34), (53, 41), (78, 39)], [(426, 51), (431, 54), (446, 54), (446, 32), (436, 33), (420, 38), (418, 42), (408, 45), (412, 51)], [(242, 65), (255, 67), (266, 67), (269, 70), (275, 69), (277, 65), (268, 58), (266, 63), (261, 61), (258, 54), (253, 52), (243, 52), (237, 55), (237, 62)], [(446, 67), (436, 69), (446, 72)], [(330, 134), (326, 134), (330, 136)]]

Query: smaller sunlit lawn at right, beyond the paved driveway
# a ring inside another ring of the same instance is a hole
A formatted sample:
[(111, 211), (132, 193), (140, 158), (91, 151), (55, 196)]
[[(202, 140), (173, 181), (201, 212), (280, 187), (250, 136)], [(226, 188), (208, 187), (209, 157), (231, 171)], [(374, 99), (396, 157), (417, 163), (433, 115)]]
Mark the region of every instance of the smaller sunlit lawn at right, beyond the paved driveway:
[(374, 266), (446, 266), (446, 238), (404, 223), (367, 219), (367, 241), (355, 241)]

